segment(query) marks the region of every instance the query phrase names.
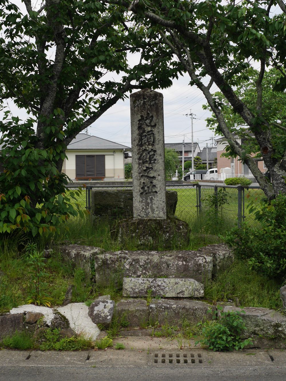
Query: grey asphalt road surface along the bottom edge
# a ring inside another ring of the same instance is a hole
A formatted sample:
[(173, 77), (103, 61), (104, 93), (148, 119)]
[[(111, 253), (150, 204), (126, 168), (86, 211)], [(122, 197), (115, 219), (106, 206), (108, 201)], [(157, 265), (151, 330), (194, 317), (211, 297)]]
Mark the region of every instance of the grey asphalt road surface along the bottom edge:
[(286, 367), (0, 366), (1, 381), (285, 381)]

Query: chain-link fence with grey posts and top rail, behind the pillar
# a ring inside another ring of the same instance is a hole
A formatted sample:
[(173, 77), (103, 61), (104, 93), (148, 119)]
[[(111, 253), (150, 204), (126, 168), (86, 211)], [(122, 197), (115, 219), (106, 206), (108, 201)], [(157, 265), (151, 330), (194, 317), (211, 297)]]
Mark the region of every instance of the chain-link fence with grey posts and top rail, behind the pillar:
[[(70, 190), (78, 189), (78, 186), (68, 186)], [(77, 200), (82, 208), (91, 210), (91, 191), (93, 188), (101, 190), (132, 189), (132, 185), (109, 186), (88, 185), (82, 188), (81, 195)], [(227, 186), (224, 184), (167, 184), (167, 191), (176, 191), (178, 195), (175, 216), (190, 222), (201, 213), (210, 218), (220, 218), (231, 225), (240, 226), (243, 221), (254, 219), (249, 213), (251, 205), (259, 205), (265, 197), (264, 192), (258, 185), (249, 187)], [(72, 203), (75, 203), (71, 201)]]

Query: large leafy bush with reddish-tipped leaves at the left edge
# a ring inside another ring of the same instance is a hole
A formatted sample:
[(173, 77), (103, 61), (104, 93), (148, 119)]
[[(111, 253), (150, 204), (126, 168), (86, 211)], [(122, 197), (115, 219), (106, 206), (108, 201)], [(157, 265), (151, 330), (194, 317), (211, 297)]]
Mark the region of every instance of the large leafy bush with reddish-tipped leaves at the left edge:
[[(4, 114), (6, 119), (8, 114)], [(18, 117), (0, 121), (0, 163), (4, 167), (0, 173), (0, 233), (4, 236), (14, 237), (18, 232), (30, 238), (48, 236), (59, 232), (69, 216), (88, 214), (77, 203), (81, 188), (67, 191), (69, 179), (56, 168), (60, 151), (54, 144), (59, 144), (58, 138), (48, 149), (36, 148), (34, 123), (33, 118), (22, 123)]]

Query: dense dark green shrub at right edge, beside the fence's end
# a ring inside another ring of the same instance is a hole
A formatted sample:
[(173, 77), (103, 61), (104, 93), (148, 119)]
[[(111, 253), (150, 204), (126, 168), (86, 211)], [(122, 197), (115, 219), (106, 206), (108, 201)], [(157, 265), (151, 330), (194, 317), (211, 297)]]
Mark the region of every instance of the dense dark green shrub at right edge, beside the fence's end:
[[(252, 204), (251, 204), (252, 205)], [(238, 258), (247, 259), (249, 267), (270, 279), (286, 275), (286, 196), (278, 195), (271, 202), (261, 201), (259, 209), (250, 212), (260, 226), (244, 223), (224, 237)]]

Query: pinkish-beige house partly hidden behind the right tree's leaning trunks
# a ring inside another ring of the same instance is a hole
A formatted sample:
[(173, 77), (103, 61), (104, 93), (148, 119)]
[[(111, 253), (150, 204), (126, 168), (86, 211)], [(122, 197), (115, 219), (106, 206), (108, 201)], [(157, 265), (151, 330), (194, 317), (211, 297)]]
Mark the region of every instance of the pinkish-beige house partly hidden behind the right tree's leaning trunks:
[[(241, 144), (241, 138), (238, 138), (238, 136), (234, 137), (236, 141), (239, 144)], [(253, 177), (248, 166), (246, 164), (243, 164), (241, 160), (238, 160), (239, 157), (227, 158), (221, 156), (223, 153), (226, 152), (225, 147), (228, 146), (228, 142), (225, 138), (215, 139), (215, 141), (217, 143), (217, 173), (220, 173), (221, 168), (229, 167), (232, 168), (232, 173), (234, 177)], [(263, 160), (257, 159), (255, 160), (255, 162), (262, 173), (266, 171), (267, 168), (265, 167)]]

